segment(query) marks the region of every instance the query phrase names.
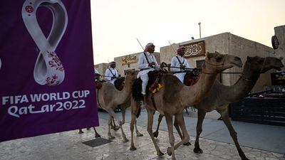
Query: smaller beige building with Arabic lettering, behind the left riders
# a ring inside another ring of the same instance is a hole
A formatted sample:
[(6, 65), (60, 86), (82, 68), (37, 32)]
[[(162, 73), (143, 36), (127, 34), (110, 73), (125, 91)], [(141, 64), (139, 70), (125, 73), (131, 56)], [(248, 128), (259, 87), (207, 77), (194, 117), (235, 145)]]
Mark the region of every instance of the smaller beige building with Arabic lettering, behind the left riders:
[[(119, 75), (125, 76), (125, 70), (139, 70), (138, 58), (140, 54), (141, 52), (114, 58)], [(155, 52), (153, 55), (155, 55), (157, 63), (160, 64), (160, 53)]]

